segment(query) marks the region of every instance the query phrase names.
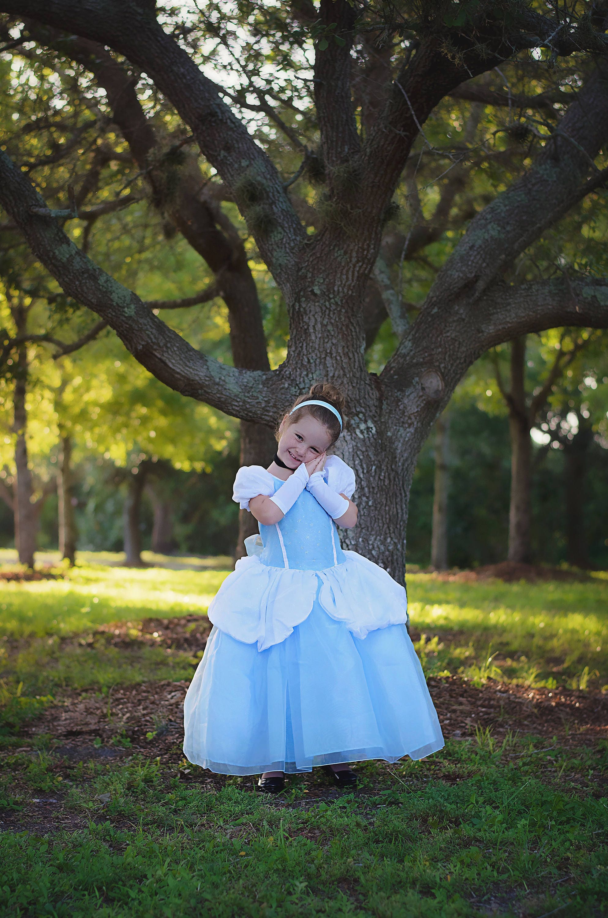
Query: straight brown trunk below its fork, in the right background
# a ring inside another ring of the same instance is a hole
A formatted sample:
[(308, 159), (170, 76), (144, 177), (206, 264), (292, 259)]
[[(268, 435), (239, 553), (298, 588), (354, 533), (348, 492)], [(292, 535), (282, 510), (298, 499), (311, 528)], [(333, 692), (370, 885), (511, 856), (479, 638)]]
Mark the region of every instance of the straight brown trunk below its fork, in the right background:
[(511, 501), (509, 505), (509, 561), (529, 564), (532, 485), (532, 441), (524, 388), (525, 336), (511, 342)]

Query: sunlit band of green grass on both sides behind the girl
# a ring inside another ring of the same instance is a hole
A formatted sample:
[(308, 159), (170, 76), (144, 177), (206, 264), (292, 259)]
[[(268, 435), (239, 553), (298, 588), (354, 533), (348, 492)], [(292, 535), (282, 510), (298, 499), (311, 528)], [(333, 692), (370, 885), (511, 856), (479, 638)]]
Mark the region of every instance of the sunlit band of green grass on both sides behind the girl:
[[(92, 553), (91, 553), (91, 556)], [(171, 558), (186, 564), (189, 559)], [(225, 559), (221, 559), (221, 563)], [(194, 563), (194, 562), (193, 562)], [(188, 655), (107, 646), (96, 628), (204, 613), (226, 570), (132, 569), (90, 561), (66, 579), (0, 585), (0, 670), (28, 691), (84, 689), (149, 678), (188, 678)], [(608, 684), (608, 577), (589, 583), (459, 583), (410, 574), (412, 628), (427, 675), (488, 676), (534, 687)], [(79, 644), (78, 637), (93, 644)], [(71, 643), (65, 638), (73, 637)], [(598, 649), (599, 648), (599, 649)], [(489, 662), (490, 659), (490, 662)]]

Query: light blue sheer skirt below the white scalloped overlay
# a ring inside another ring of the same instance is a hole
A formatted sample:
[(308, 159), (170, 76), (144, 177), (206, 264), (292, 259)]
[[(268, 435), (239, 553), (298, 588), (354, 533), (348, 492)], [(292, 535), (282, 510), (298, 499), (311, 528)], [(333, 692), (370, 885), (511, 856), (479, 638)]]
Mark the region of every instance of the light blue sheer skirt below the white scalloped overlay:
[(186, 757), (225, 775), (418, 759), (444, 745), (405, 625), (357, 638), (318, 599), (263, 651), (214, 627), (184, 719)]

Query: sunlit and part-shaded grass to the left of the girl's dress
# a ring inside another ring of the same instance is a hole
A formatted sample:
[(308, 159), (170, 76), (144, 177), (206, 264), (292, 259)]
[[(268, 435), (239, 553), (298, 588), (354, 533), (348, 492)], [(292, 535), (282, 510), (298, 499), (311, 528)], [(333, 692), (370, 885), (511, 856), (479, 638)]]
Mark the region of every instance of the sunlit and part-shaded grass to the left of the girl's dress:
[[(222, 559), (223, 561), (223, 559)], [(58, 570), (57, 568), (55, 570)], [(85, 564), (59, 580), (0, 584), (0, 677), (25, 694), (191, 678), (196, 662), (162, 647), (112, 647), (100, 625), (204, 614), (227, 571)], [(134, 628), (136, 631), (136, 627)]]

